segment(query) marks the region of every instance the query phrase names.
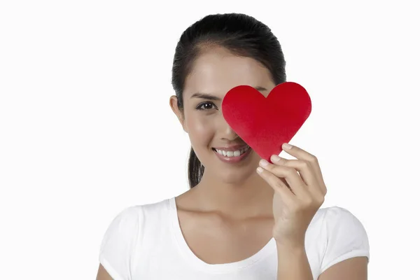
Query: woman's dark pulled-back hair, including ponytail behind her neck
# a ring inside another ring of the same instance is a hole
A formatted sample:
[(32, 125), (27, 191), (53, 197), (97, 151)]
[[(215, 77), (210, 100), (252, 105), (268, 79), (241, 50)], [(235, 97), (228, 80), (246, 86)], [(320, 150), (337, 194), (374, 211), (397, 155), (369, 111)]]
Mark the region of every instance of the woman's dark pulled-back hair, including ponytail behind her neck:
[[(186, 76), (198, 55), (213, 46), (221, 46), (232, 54), (257, 60), (267, 67), (276, 85), (286, 81), (286, 61), (281, 45), (267, 25), (241, 13), (207, 15), (183, 31), (176, 45), (172, 86), (181, 112)], [(188, 160), (190, 188), (200, 182), (203, 173), (204, 166), (191, 147)]]

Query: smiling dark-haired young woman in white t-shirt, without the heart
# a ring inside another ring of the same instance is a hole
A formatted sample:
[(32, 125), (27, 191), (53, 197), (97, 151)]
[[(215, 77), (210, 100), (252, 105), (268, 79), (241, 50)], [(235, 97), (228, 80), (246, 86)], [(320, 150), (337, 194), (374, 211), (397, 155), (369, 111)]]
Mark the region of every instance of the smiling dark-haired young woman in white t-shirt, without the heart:
[(228, 90), (267, 96), (285, 64), (277, 38), (247, 15), (208, 15), (183, 32), (170, 106), (191, 141), (190, 190), (114, 218), (97, 279), (367, 279), (366, 232), (346, 209), (320, 208), (316, 157), (283, 144), (296, 159), (270, 164), (223, 118)]

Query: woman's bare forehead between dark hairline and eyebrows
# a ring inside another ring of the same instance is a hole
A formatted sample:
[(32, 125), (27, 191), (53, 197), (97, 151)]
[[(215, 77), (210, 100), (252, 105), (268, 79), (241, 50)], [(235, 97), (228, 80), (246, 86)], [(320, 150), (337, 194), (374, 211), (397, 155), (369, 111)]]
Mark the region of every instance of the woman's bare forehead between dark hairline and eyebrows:
[(260, 62), (251, 57), (239, 57), (223, 48), (212, 48), (195, 60), (186, 78), (184, 94), (195, 92), (214, 94), (223, 98), (237, 85), (270, 87), (270, 73)]

